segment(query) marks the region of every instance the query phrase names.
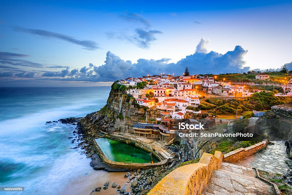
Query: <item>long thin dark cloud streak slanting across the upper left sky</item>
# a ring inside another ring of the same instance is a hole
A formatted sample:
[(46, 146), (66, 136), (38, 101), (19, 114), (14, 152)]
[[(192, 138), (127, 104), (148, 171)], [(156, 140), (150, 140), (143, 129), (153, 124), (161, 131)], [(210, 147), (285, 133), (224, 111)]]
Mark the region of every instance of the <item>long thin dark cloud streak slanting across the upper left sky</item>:
[(83, 46), (82, 49), (87, 49), (87, 50), (95, 50), (99, 49), (100, 47), (98, 46), (98, 43), (91, 41), (91, 40), (78, 40), (73, 37), (70, 37), (65, 34), (60, 34), (56, 32), (50, 32), (46, 30), (39, 30), (39, 29), (31, 29), (31, 28), (23, 28), (23, 27), (14, 27), (14, 30), (16, 32), (26, 32), (29, 34), (36, 34), (42, 37), (49, 37), (49, 38), (55, 38), (55, 39), (60, 39), (69, 43), (77, 44), (80, 46)]

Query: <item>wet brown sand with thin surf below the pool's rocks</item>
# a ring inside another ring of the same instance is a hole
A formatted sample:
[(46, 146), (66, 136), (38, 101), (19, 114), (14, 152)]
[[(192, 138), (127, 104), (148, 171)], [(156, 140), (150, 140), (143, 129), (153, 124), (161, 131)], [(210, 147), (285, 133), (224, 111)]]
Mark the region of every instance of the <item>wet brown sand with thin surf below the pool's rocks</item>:
[[(107, 172), (104, 170), (94, 170), (88, 175), (74, 177), (69, 179), (67, 186), (61, 194), (84, 194), (89, 195), (94, 190), (92, 195), (117, 195), (117, 188), (112, 188), (112, 183), (116, 182), (121, 185), (120, 189), (126, 189), (131, 192), (131, 183), (127, 183), (127, 177), (124, 177), (126, 172)], [(133, 174), (133, 172), (131, 172)], [(108, 189), (102, 189), (103, 184), (109, 182)], [(100, 191), (95, 191), (95, 188), (101, 187)]]

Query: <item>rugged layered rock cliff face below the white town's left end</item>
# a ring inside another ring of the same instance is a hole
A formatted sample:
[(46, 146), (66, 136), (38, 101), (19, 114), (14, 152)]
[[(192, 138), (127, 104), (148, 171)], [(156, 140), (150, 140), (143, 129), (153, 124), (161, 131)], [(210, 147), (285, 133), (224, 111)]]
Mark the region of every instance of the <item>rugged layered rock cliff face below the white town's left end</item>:
[(86, 115), (80, 120), (79, 130), (82, 134), (98, 136), (98, 132), (133, 132), (137, 122), (155, 122), (152, 118), (159, 116), (159, 111), (139, 106), (136, 100), (121, 90), (109, 93), (107, 104), (97, 112)]

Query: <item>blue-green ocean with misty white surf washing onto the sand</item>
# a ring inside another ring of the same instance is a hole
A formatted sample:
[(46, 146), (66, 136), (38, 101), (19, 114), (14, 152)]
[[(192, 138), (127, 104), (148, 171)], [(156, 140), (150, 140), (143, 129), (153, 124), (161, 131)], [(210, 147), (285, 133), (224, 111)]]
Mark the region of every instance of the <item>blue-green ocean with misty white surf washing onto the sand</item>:
[[(123, 172), (93, 170), (68, 137), (76, 125), (46, 124), (100, 110), (110, 87), (0, 88), (0, 194), (90, 194)], [(113, 190), (102, 194), (112, 194)], [(97, 192), (98, 193), (98, 192)], [(95, 193), (93, 193), (95, 194)]]

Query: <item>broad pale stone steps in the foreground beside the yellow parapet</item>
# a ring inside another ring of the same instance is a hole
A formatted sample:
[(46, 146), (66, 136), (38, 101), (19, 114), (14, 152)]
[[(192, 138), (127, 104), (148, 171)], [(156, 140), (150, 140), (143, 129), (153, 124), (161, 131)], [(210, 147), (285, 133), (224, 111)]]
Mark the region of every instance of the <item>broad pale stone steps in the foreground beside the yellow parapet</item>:
[(272, 186), (255, 178), (255, 170), (222, 163), (212, 172), (208, 186), (202, 195), (271, 195)]

